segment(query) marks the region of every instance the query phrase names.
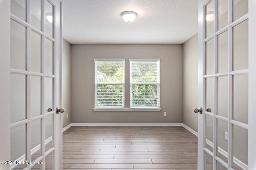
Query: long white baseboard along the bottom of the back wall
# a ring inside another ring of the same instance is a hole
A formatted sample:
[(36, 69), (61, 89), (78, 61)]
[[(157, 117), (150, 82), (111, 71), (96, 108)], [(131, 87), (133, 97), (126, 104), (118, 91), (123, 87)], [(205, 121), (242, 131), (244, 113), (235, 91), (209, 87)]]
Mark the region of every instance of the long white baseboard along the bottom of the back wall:
[(71, 123), (71, 126), (183, 126), (183, 123)]

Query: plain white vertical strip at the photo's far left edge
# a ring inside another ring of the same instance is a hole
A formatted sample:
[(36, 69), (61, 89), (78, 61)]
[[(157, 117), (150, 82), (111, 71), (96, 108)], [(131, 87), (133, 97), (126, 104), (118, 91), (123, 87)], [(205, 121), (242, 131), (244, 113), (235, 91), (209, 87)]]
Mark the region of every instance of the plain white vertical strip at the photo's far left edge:
[[(0, 0), (0, 160), (10, 160), (10, 1)], [(1, 170), (10, 165), (0, 164)]]

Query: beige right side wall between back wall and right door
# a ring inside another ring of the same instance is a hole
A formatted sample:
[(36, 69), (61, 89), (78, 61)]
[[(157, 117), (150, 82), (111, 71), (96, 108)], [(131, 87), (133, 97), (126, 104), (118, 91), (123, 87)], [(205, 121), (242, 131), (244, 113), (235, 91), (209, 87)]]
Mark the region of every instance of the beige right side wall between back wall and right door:
[(183, 44), (183, 123), (197, 132), (198, 34)]

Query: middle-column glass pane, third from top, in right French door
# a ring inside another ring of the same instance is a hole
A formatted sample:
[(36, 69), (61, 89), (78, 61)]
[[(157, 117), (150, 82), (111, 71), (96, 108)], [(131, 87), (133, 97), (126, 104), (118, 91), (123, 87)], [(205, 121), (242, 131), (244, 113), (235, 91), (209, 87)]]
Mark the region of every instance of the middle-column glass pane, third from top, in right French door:
[(217, 114), (228, 117), (228, 76), (218, 77)]

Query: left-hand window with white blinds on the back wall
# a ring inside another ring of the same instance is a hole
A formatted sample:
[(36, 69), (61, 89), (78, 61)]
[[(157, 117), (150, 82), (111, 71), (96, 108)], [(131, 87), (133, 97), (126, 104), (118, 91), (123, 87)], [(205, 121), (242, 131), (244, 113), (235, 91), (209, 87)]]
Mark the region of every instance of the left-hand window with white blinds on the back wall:
[(95, 107), (124, 107), (125, 59), (94, 59)]

